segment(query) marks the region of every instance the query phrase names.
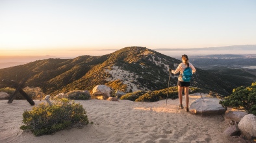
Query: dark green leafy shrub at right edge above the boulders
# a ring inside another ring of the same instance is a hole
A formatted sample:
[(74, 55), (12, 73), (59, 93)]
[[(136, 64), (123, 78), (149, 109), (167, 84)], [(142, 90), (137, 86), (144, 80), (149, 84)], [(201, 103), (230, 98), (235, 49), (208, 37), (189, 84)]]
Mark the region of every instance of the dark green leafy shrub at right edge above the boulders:
[(256, 83), (252, 83), (250, 87), (241, 86), (233, 89), (233, 93), (220, 101), (220, 104), (225, 107), (244, 109), (256, 115)]

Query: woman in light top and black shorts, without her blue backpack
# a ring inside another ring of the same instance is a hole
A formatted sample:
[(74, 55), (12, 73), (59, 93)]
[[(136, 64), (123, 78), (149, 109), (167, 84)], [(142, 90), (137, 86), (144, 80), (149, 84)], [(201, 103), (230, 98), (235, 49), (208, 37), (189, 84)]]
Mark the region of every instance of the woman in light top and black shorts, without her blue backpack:
[(179, 66), (177, 67), (177, 69), (174, 71), (172, 70), (173, 74), (177, 74), (178, 72), (180, 72), (180, 76), (178, 78), (178, 91), (179, 91), (179, 108), (183, 109), (183, 105), (182, 105), (182, 91), (183, 89), (185, 90), (185, 98), (186, 98), (186, 107), (185, 107), (185, 111), (188, 112), (188, 102), (189, 102), (189, 98), (188, 98), (188, 90), (189, 90), (189, 86), (190, 86), (190, 82), (184, 82), (183, 78), (182, 78), (182, 74), (183, 71), (186, 69), (186, 67), (190, 67), (192, 69), (192, 73), (196, 72), (195, 67), (188, 62), (188, 56), (186, 54), (183, 54), (181, 56), (181, 60), (182, 63), (179, 64)]

